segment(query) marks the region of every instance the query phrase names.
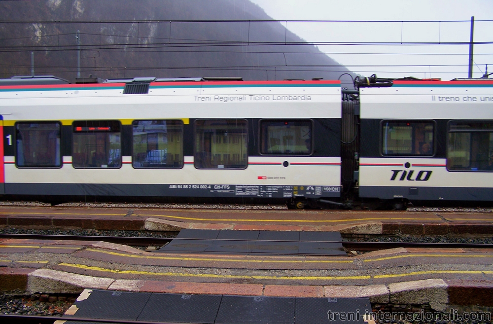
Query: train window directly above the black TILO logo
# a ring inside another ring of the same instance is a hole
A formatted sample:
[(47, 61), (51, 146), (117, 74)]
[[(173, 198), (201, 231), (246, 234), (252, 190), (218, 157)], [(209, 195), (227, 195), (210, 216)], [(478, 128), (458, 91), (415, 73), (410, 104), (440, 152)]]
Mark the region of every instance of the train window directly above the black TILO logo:
[(432, 156), (434, 121), (382, 121), (382, 155)]

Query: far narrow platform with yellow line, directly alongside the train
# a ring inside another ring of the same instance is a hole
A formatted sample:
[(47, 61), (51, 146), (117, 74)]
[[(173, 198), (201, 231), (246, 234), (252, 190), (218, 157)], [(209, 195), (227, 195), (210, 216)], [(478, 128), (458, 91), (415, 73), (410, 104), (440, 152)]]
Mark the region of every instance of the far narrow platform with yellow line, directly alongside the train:
[(493, 213), (0, 206), (0, 226), (153, 231), (179, 231), (182, 228), (337, 231), (356, 235), (491, 235)]

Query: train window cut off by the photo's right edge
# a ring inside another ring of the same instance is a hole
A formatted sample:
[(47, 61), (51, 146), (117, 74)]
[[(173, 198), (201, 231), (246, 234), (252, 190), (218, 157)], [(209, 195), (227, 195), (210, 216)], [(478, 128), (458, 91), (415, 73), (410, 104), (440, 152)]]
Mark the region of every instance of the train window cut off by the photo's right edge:
[(493, 171), (493, 121), (450, 121), (447, 169)]

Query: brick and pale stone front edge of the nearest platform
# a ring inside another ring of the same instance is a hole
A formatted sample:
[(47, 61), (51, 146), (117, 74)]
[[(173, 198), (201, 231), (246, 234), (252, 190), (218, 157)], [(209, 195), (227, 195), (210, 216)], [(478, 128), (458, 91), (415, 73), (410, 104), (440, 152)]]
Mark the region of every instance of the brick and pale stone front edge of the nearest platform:
[(0, 292), (6, 294), (80, 293), (85, 288), (135, 292), (227, 294), (283, 297), (369, 297), (377, 304), (493, 306), (489, 280), (426, 279), (371, 286), (286, 286), (261, 284), (186, 283), (91, 277), (50, 269), (0, 268)]

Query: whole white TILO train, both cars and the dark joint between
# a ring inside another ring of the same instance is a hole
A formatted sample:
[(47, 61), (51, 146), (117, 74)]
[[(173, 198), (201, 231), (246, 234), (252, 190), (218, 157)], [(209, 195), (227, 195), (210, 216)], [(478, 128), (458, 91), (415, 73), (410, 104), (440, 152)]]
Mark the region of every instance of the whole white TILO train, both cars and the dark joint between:
[(1, 79), (0, 194), (298, 209), (492, 201), (493, 80), (372, 75), (354, 85)]

